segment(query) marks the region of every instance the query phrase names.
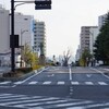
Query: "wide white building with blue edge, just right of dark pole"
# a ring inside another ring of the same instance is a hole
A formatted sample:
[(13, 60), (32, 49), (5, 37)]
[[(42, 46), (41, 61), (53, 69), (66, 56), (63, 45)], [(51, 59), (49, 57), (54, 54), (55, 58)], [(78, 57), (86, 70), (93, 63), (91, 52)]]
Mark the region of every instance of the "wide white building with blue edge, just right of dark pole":
[(19, 45), (24, 46), (27, 44), (32, 48), (34, 37), (34, 17), (22, 13), (15, 13), (14, 17), (14, 34), (20, 36)]

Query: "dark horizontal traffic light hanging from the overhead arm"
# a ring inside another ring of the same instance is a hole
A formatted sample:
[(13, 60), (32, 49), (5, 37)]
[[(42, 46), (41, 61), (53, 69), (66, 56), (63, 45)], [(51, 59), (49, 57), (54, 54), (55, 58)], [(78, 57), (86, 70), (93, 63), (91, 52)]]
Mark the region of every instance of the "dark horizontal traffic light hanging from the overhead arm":
[(35, 0), (35, 9), (36, 10), (50, 10), (51, 9), (51, 0)]

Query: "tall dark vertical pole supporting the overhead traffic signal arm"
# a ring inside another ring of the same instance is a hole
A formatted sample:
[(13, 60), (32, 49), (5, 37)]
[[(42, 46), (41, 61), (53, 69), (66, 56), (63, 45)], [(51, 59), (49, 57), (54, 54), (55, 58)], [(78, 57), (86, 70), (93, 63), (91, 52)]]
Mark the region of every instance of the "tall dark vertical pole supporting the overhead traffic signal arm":
[(11, 71), (15, 71), (15, 49), (14, 49), (14, 0), (11, 0)]

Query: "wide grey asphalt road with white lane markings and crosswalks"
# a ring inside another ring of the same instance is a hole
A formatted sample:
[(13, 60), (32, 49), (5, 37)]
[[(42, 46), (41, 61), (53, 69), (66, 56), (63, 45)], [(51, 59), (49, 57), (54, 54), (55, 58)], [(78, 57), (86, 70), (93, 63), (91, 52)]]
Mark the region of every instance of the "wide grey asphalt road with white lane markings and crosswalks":
[(106, 68), (50, 66), (19, 82), (0, 82), (0, 109), (109, 109)]

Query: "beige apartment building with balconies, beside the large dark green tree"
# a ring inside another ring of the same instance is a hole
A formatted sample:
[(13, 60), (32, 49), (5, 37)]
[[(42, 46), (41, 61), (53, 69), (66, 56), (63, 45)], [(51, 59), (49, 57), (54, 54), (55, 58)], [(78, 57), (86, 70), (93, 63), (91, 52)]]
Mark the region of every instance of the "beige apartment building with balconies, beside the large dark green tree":
[(85, 49), (93, 52), (94, 41), (98, 34), (97, 26), (82, 26), (81, 28), (81, 56)]

